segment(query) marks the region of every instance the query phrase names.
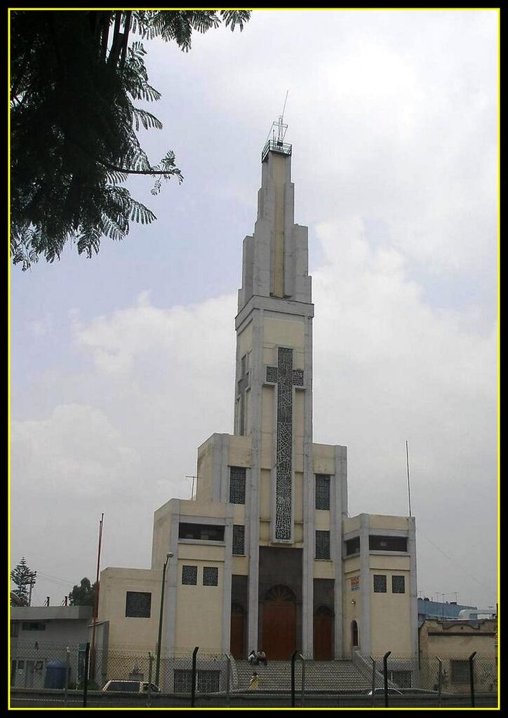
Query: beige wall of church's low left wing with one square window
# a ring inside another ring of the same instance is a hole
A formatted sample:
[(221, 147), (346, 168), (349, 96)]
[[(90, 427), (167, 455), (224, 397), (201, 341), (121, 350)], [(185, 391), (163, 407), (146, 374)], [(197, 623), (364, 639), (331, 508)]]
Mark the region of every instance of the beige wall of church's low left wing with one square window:
[[(98, 620), (108, 620), (109, 650), (154, 651), (159, 625), (162, 571), (109, 567), (100, 573)], [(149, 618), (126, 616), (128, 591), (151, 593)], [(121, 678), (122, 676), (108, 676)]]

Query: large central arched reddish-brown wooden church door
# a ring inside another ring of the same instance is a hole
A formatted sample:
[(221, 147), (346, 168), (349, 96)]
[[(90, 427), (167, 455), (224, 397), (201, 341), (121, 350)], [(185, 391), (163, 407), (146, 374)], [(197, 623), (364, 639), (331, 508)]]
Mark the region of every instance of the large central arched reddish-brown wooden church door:
[(287, 586), (273, 586), (263, 602), (263, 644), (268, 661), (287, 661), (296, 651), (296, 597)]

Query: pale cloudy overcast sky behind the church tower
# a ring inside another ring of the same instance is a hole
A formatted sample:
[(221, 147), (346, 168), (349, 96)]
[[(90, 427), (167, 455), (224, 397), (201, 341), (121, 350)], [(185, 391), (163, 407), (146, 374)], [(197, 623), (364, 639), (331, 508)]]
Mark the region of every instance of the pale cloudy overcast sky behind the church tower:
[(146, 42), (158, 220), (88, 260), (11, 270), (11, 561), (52, 605), (149, 568), (152, 520), (232, 432), (241, 248), (286, 103), (309, 226), (314, 441), (348, 447), (349, 515), (416, 517), (418, 595), (497, 601), (497, 12), (254, 11)]

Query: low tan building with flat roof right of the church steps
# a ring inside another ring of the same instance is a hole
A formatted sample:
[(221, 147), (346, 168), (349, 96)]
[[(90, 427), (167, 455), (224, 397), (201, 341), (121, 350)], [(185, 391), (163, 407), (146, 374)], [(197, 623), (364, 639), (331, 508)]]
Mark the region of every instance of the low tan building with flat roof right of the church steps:
[(438, 659), (443, 691), (468, 693), (469, 657), (474, 656), (475, 691), (497, 691), (497, 620), (425, 620), (419, 628), (421, 680), (437, 689)]

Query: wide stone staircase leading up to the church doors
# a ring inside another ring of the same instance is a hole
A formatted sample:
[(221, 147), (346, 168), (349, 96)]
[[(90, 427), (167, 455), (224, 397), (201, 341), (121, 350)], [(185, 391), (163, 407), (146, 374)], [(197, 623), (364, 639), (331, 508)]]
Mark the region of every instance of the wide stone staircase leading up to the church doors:
[[(235, 661), (237, 685), (245, 691), (253, 671), (259, 676), (258, 691), (291, 691), (291, 661), (268, 661), (268, 666), (251, 666), (248, 661)], [(295, 687), (301, 691), (301, 661), (295, 664)], [(306, 661), (305, 691), (356, 691), (370, 689), (370, 681), (352, 661)]]

